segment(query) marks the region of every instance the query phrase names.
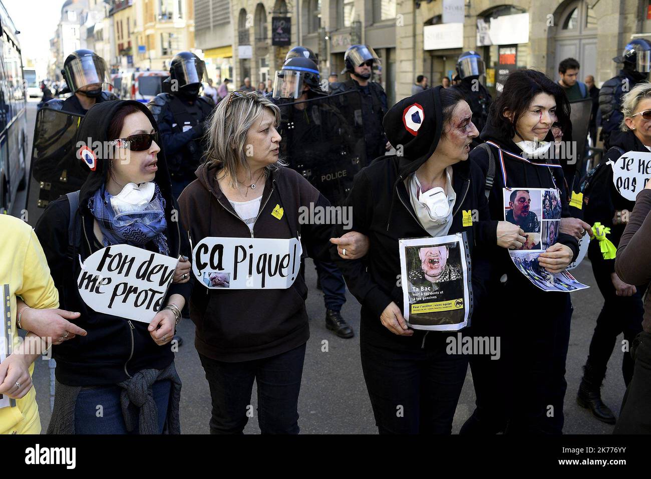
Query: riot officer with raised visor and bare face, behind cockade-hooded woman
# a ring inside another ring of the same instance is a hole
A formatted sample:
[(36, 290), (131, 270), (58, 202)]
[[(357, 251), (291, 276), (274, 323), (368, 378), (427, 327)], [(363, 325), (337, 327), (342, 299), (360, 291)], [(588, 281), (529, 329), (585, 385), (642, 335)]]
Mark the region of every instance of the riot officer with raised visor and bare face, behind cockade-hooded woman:
[(382, 126), (382, 119), (387, 113), (387, 94), (380, 83), (371, 81), (373, 66), (380, 65), (380, 58), (375, 51), (367, 45), (352, 45), (344, 53), (346, 68), (342, 74), (348, 72), (350, 80), (332, 84), (332, 93), (344, 91), (359, 91), (361, 105), (354, 105), (355, 114), (361, 110), (365, 128), (367, 161), (371, 162), (391, 149)]

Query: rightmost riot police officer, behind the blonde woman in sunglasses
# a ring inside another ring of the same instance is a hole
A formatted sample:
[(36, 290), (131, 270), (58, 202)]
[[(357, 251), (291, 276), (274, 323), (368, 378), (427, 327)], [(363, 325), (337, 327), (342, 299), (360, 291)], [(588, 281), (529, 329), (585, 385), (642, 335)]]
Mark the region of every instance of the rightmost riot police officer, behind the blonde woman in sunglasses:
[(599, 111), (602, 116), (603, 147), (611, 147), (611, 132), (616, 132), (622, 123), (622, 95), (631, 91), (637, 83), (648, 78), (651, 71), (651, 42), (646, 38), (631, 40), (624, 53), (613, 58), (615, 63), (623, 63), (624, 67), (619, 74), (603, 83), (599, 92)]

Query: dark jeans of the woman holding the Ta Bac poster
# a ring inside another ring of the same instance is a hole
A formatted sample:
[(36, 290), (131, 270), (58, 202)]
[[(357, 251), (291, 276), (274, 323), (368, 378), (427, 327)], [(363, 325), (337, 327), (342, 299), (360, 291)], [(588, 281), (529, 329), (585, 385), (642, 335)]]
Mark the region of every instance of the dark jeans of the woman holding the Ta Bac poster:
[(413, 351), (378, 347), (362, 336), (362, 369), (380, 434), (451, 433), (468, 356), (447, 354), (448, 336), (432, 331), (424, 348)]

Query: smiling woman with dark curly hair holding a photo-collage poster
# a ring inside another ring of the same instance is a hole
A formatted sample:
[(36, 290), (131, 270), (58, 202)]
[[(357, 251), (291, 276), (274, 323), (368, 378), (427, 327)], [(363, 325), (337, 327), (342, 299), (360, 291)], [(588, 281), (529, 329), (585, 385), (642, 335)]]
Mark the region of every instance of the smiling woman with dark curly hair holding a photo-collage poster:
[[(562, 168), (549, 159), (555, 141), (552, 126), (570, 130), (570, 105), (561, 87), (535, 70), (510, 74), (480, 136), (486, 144), (470, 154), (485, 178), (495, 172), (492, 186), (487, 181), (493, 220), (504, 216), (504, 188), (555, 188), (561, 200), (566, 198)], [(562, 216), (569, 216), (565, 201)], [(561, 228), (538, 264), (550, 273), (561, 272), (577, 252), (577, 240)], [(491, 308), (480, 305), (472, 330), (476, 336), (500, 337), (501, 357), (471, 358), (477, 409), (461, 432), (561, 433), (570, 295), (538, 289), (506, 252), (492, 258), (486, 288)]]

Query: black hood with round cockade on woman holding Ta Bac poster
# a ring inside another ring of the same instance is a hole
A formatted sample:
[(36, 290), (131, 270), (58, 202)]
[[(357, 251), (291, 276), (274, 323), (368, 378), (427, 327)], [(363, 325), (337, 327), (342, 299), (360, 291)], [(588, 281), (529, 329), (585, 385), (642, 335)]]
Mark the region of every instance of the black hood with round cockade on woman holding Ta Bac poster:
[(391, 145), (400, 152), (400, 174), (407, 177), (432, 156), (441, 139), (441, 85), (408, 96), (384, 115), (382, 124)]

